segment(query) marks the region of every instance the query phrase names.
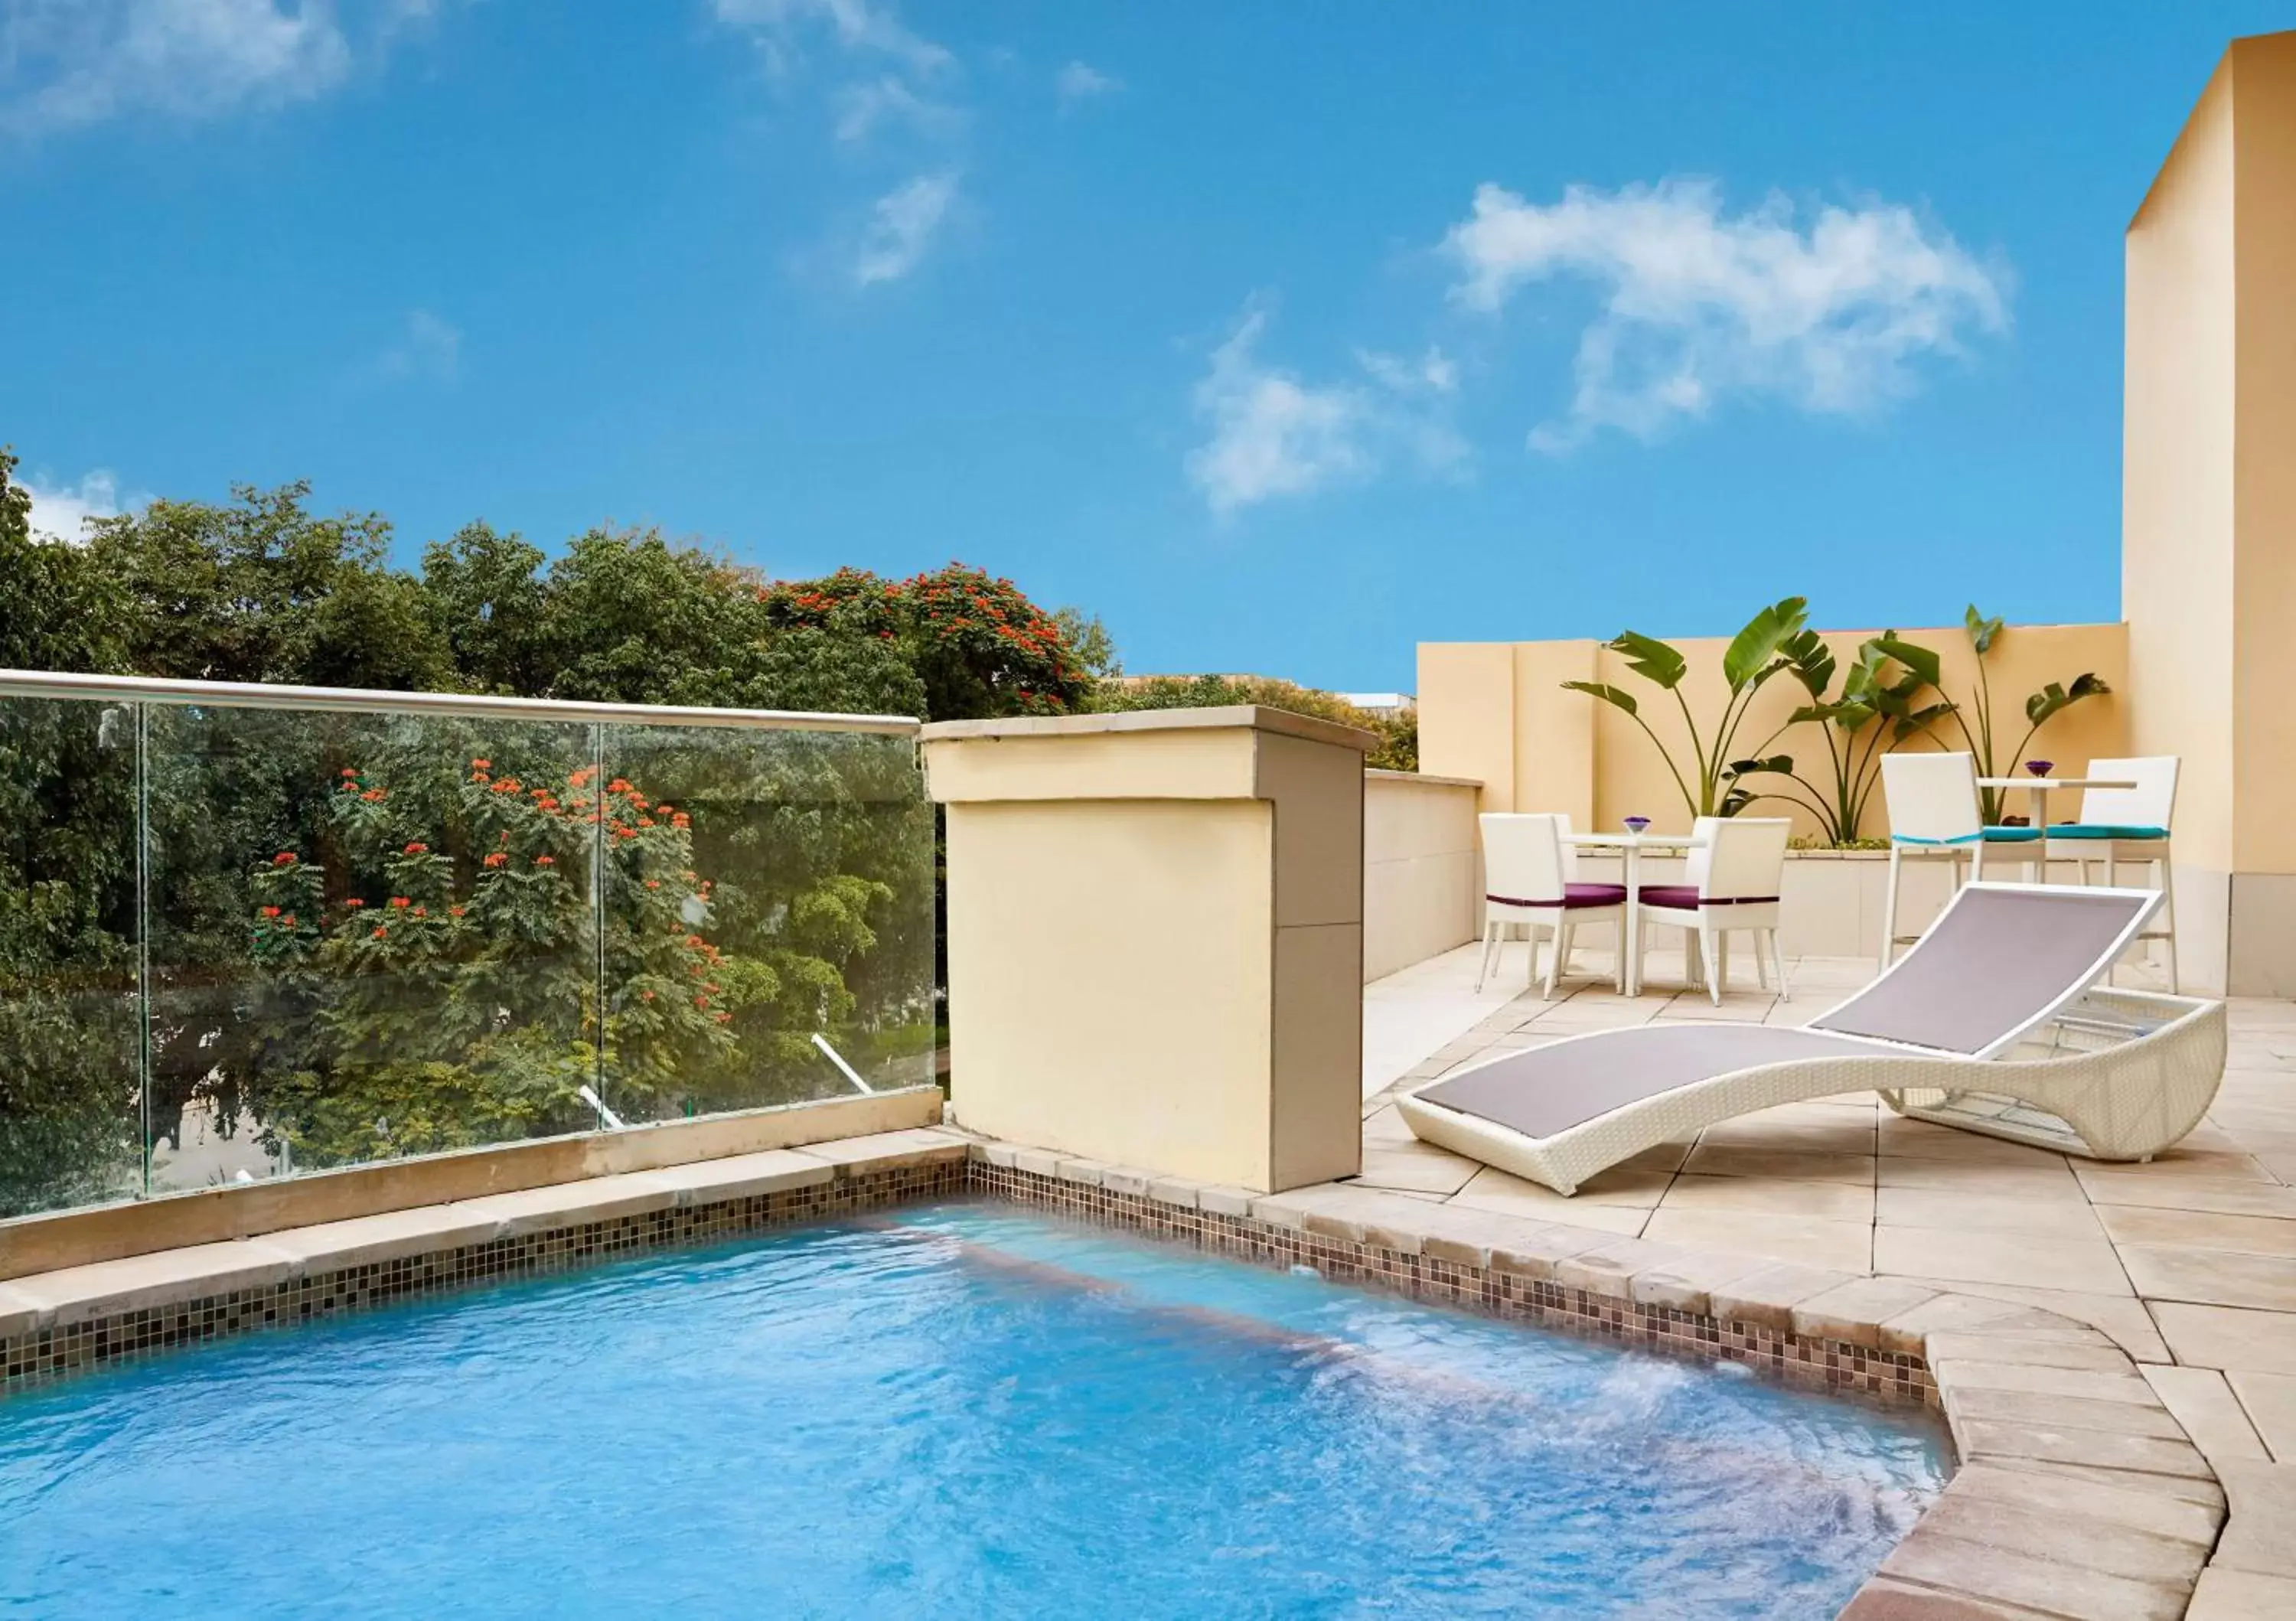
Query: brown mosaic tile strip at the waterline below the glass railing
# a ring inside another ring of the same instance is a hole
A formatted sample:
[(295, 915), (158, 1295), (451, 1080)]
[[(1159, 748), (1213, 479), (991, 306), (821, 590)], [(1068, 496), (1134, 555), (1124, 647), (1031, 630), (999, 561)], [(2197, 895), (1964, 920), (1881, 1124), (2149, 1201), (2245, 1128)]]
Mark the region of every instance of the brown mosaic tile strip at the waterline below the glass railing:
[(41, 1327), (0, 1341), (0, 1396), (214, 1339), (262, 1334), (478, 1283), (574, 1272), (622, 1256), (707, 1244), (739, 1233), (962, 1192), (967, 1192), (962, 1159), (905, 1164), (810, 1187), (579, 1221)]

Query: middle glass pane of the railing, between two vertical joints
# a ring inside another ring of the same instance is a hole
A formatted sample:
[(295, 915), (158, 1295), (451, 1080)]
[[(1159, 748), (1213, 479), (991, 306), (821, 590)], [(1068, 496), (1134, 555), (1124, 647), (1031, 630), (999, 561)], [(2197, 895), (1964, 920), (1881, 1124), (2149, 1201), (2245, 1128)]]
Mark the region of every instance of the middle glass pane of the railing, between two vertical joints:
[(592, 753), (152, 703), (152, 1192), (597, 1127)]

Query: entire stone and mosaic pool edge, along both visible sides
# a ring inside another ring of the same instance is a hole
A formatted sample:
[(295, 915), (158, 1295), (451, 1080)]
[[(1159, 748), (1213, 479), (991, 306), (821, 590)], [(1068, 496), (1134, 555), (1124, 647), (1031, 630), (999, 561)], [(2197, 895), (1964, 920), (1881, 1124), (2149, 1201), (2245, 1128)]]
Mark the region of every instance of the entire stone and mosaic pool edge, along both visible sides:
[[(0, 1391), (468, 1283), (976, 1189), (1261, 1263), (1933, 1401), (1961, 1469), (1844, 1610), (2177, 1616), (2225, 1492), (2135, 1364), (2048, 1311), (1322, 1185), (1249, 1194), (905, 1130), (0, 1283)], [(2278, 1534), (2243, 1508), (2225, 1545)], [(2227, 1612), (2229, 1614), (2229, 1612)], [(2262, 1614), (2262, 1612), (2259, 1612)]]

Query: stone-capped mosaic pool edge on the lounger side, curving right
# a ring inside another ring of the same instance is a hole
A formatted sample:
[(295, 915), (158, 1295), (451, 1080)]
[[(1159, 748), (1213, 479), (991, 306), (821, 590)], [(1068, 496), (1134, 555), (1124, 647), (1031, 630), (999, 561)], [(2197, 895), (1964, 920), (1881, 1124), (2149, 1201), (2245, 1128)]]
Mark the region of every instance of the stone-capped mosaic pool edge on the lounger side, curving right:
[(2135, 1362), (2053, 1311), (1336, 1182), (1251, 1194), (1013, 1143), (971, 1153), (971, 1185), (1019, 1203), (1938, 1405), (1961, 1467), (1846, 1621), (2181, 1616), (2225, 1534), (2216, 1472)]

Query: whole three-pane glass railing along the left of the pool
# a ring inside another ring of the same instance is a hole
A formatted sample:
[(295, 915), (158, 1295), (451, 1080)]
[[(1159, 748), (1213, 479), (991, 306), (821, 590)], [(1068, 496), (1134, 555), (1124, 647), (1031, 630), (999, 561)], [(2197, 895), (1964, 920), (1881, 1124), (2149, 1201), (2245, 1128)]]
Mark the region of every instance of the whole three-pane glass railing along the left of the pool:
[(914, 723), (108, 687), (0, 696), (0, 1215), (932, 1081)]

